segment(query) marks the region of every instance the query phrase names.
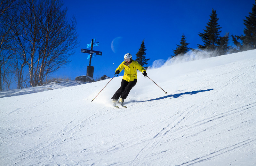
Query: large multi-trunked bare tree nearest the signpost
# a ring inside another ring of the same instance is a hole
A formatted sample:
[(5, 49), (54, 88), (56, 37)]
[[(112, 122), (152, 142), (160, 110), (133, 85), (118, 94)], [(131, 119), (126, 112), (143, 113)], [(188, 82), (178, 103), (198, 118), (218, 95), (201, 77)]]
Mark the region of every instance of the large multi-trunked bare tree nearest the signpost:
[(20, 66), (29, 69), (30, 85), (40, 86), (48, 75), (68, 64), (77, 45), (76, 20), (68, 20), (60, 0), (25, 0), (16, 31)]

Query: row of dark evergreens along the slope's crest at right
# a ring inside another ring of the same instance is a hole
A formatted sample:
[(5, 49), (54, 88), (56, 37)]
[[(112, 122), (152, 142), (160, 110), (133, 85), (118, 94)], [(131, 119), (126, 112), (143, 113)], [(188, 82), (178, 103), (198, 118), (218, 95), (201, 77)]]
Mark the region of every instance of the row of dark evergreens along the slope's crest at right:
[[(224, 36), (220, 36), (221, 28), (218, 24), (219, 18), (217, 17), (216, 10), (212, 9), (209, 22), (203, 33), (199, 32), (204, 45), (197, 44), (199, 50), (214, 51), (216, 56), (225, 55), (228, 53), (236, 53), (240, 51), (246, 51), (256, 48), (256, 0), (253, 4), (252, 12), (249, 12), (249, 16), (244, 19), (244, 35), (231, 35), (232, 41), (236, 47), (228, 46), (229, 33)], [(173, 50), (173, 55), (182, 56), (187, 53), (191, 48), (188, 47), (189, 43), (186, 41), (184, 34), (181, 36), (180, 45)], [(191, 49), (193, 50), (193, 49)]]

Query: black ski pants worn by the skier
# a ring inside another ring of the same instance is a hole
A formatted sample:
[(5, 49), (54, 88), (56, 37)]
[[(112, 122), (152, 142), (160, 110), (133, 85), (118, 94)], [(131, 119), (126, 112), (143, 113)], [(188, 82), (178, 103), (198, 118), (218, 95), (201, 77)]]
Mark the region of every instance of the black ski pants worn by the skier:
[(118, 100), (120, 96), (122, 99), (126, 99), (126, 97), (130, 93), (131, 89), (136, 85), (136, 83), (137, 79), (134, 79), (134, 81), (131, 82), (122, 79), (121, 87), (116, 91), (116, 93), (113, 95), (111, 99)]

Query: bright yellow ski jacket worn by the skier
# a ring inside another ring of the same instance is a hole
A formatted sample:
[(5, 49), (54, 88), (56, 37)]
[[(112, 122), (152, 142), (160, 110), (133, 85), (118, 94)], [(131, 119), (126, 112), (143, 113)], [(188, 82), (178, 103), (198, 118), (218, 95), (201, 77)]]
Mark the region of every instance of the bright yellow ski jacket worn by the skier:
[(125, 61), (122, 62), (116, 69), (120, 72), (124, 69), (124, 77), (123, 79), (130, 82), (134, 81), (134, 79), (137, 79), (137, 69), (140, 72), (146, 72), (144, 67), (142, 67), (137, 61), (132, 61), (130, 64), (126, 64)]

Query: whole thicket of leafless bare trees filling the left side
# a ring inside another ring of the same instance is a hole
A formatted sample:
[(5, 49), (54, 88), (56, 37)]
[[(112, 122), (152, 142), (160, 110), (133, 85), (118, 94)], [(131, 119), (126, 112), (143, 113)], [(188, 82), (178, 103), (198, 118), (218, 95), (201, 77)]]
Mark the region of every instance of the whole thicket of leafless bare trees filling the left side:
[(76, 19), (59, 0), (1, 0), (0, 90), (43, 85), (74, 54)]

